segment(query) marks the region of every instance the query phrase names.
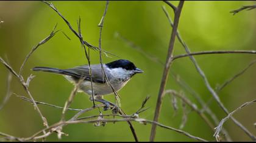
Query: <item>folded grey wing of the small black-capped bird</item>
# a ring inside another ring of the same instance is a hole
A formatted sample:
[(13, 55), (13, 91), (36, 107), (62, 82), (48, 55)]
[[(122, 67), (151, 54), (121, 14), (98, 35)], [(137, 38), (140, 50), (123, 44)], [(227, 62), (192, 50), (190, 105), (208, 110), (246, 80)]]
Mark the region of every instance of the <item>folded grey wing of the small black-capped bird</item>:
[[(85, 78), (85, 80), (91, 81), (88, 65), (81, 65), (79, 67), (68, 68), (62, 71), (64, 72), (64, 75), (73, 76), (77, 79)], [(93, 82), (105, 83), (105, 80), (102, 76), (101, 64), (91, 65), (91, 75)]]

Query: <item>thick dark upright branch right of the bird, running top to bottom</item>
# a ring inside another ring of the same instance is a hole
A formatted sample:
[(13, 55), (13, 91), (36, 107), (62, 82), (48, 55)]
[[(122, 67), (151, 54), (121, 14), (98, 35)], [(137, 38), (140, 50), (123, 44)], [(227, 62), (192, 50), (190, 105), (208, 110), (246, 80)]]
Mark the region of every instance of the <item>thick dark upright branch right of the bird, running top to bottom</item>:
[[(158, 98), (157, 98), (157, 106), (155, 107), (155, 115), (154, 115), (155, 122), (158, 121), (158, 118), (160, 115), (163, 92), (165, 91), (165, 85), (166, 85), (166, 81), (167, 81), (167, 78), (169, 75), (169, 68), (171, 67), (171, 63), (172, 63), (172, 52), (173, 52), (173, 48), (174, 48), (174, 42), (176, 39), (176, 33), (177, 33), (177, 28), (178, 28), (179, 19), (180, 19), (180, 13), (182, 11), (183, 4), (184, 4), (184, 1), (179, 2), (179, 5), (178, 5), (177, 10), (175, 11), (175, 15), (174, 15), (174, 27), (172, 28), (171, 39), (169, 42), (168, 55), (166, 57), (166, 62), (165, 62), (165, 69), (163, 70), (162, 81), (161, 81), (160, 90), (159, 90)], [(157, 125), (153, 124), (152, 128), (151, 128), (150, 141), (154, 141), (156, 129), (157, 129)]]

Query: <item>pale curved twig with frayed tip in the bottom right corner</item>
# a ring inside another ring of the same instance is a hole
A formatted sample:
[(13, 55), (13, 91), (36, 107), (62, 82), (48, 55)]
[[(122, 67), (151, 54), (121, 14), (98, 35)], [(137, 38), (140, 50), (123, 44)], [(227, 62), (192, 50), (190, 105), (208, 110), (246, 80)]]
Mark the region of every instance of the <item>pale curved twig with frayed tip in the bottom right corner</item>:
[(230, 112), (229, 115), (226, 116), (226, 118), (223, 118), (221, 120), (221, 122), (219, 122), (219, 125), (215, 128), (216, 129), (216, 132), (213, 136), (215, 136), (216, 138), (218, 138), (219, 136), (219, 132), (221, 131), (221, 128), (222, 128), (222, 125), (224, 124), (224, 122), (226, 122), (229, 118), (232, 118), (232, 115), (234, 113), (236, 113), (236, 111), (238, 110), (241, 110), (242, 108), (246, 107), (247, 105), (251, 105), (253, 104), (254, 102), (256, 102), (256, 99), (254, 99), (253, 101), (250, 101), (250, 102), (246, 102), (244, 103), (243, 105), (241, 105), (240, 107), (236, 108), (234, 111)]

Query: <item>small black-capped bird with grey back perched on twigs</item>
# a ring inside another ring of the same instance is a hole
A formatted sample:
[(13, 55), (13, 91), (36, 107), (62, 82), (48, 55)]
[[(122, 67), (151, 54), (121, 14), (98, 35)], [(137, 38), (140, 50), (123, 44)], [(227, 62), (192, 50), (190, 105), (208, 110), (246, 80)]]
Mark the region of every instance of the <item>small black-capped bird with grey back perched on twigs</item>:
[[(108, 78), (109, 83), (112, 87), (119, 91), (127, 82), (132, 78), (133, 75), (137, 73), (143, 73), (143, 70), (137, 68), (132, 62), (126, 59), (119, 59), (117, 61), (109, 62), (107, 64), (103, 64), (103, 68), (105, 74)], [(93, 91), (91, 90), (91, 79), (90, 79), (90, 71), (88, 65), (81, 65), (74, 68), (68, 69), (59, 69), (59, 68), (50, 68), (50, 67), (34, 67), (32, 68), (34, 71), (46, 71), (50, 73), (57, 73), (65, 76), (69, 82), (73, 84), (77, 84), (79, 79), (84, 79), (79, 85), (79, 92), (84, 91), (90, 96), (90, 100), (93, 92), (94, 101), (101, 102), (105, 104), (104, 110), (108, 110), (110, 105), (116, 107), (112, 102), (108, 102), (103, 99), (102, 96), (110, 95), (113, 93), (112, 87), (107, 84), (104, 79), (104, 74), (102, 73), (101, 64), (91, 65), (91, 78), (93, 81)]]

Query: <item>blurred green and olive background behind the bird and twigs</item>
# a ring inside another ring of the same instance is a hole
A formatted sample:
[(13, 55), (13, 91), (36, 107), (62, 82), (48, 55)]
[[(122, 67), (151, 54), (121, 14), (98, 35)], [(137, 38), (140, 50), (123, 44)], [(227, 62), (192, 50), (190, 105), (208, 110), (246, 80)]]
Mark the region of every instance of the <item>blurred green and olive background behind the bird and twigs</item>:
[[(77, 29), (77, 19), (82, 19), (82, 33), (84, 39), (90, 44), (98, 46), (99, 21), (104, 12), (105, 1), (54, 1), (54, 5), (66, 19)], [(172, 2), (177, 5), (178, 2)], [(233, 16), (230, 10), (240, 8), (241, 5), (252, 5), (252, 1), (188, 1), (185, 2), (180, 17), (179, 31), (187, 42), (191, 51), (202, 50), (256, 50), (256, 10), (243, 11)], [(136, 75), (124, 87), (119, 94), (121, 104), (127, 114), (132, 114), (140, 107), (143, 99), (149, 95), (148, 111), (140, 115), (141, 118), (153, 119), (154, 108), (157, 101), (158, 88), (162, 78), (163, 67), (143, 56), (126, 42), (116, 37), (116, 32), (136, 45), (144, 52), (158, 57), (165, 62), (168, 50), (171, 27), (162, 10), (162, 5), (173, 18), (171, 8), (162, 1), (110, 1), (108, 12), (102, 32), (102, 48), (115, 53), (123, 59), (129, 59), (137, 67), (145, 72)], [(0, 56), (9, 59), (10, 65), (18, 71), (25, 56), (30, 49), (41, 39), (49, 35), (54, 25), (65, 32), (71, 38), (69, 41), (62, 32), (57, 33), (50, 41), (42, 45), (30, 57), (24, 68), (24, 76), (30, 73), (36, 77), (30, 82), (29, 89), (35, 100), (63, 106), (68, 98), (73, 85), (69, 84), (62, 76), (36, 73), (30, 69), (35, 66), (70, 68), (87, 64), (84, 50), (80, 42), (69, 30), (63, 19), (60, 18), (43, 2), (39, 1), (1, 1), (0, 2)], [(182, 45), (176, 41), (174, 54), (185, 53)], [(104, 62), (114, 61), (116, 57), (103, 56)], [(205, 55), (196, 56), (196, 59), (205, 71), (210, 84), (215, 87), (226, 81), (238, 71), (242, 70), (253, 59), (254, 55)], [(99, 63), (99, 53), (91, 51), (92, 64)], [(197, 73), (194, 65), (188, 58), (175, 61), (171, 67), (188, 85), (201, 95), (204, 101), (212, 97)], [(256, 66), (227, 85), (220, 93), (221, 101), (232, 111), (244, 102), (255, 99), (256, 93)], [(8, 71), (0, 65), (0, 102), (6, 93), (6, 79)], [(17, 95), (27, 96), (23, 87), (16, 78), (11, 83), (11, 91)], [(182, 91), (175, 80), (168, 79), (166, 89)], [(196, 100), (188, 94), (191, 101)], [(113, 96), (105, 99), (114, 101)], [(197, 104), (198, 105), (198, 104)], [(44, 105), (38, 105), (49, 124), (59, 121), (62, 110)], [(74, 99), (72, 108), (91, 107), (92, 103), (84, 93), (78, 93)], [(163, 99), (160, 120), (162, 124), (179, 128), (182, 121), (182, 108), (179, 102), (179, 110), (174, 116), (171, 100), (168, 96)], [(200, 107), (200, 106), (199, 106)], [(226, 115), (216, 102), (210, 105), (219, 119)], [(252, 133), (256, 134), (255, 115), (256, 105), (251, 105), (236, 113), (234, 116), (242, 122)], [(74, 115), (76, 111), (68, 111), (66, 119)], [(110, 111), (104, 111), (104, 114)], [(98, 115), (98, 110), (90, 111), (84, 116)], [(149, 141), (151, 125), (133, 123), (140, 141)], [(250, 141), (250, 139), (232, 121), (227, 121), (224, 127), (229, 131), (234, 141)], [(0, 131), (13, 136), (28, 137), (43, 128), (41, 118), (33, 105), (21, 101), (15, 95), (0, 110)], [(183, 130), (191, 135), (214, 141), (213, 131), (194, 112), (188, 114), (188, 121)], [(108, 123), (105, 127), (94, 127), (93, 124), (75, 124), (63, 128), (69, 136), (63, 136), (61, 140), (52, 134), (46, 141), (133, 141), (132, 133), (126, 122), (116, 124)], [(155, 141), (194, 141), (174, 131), (157, 128)]]

